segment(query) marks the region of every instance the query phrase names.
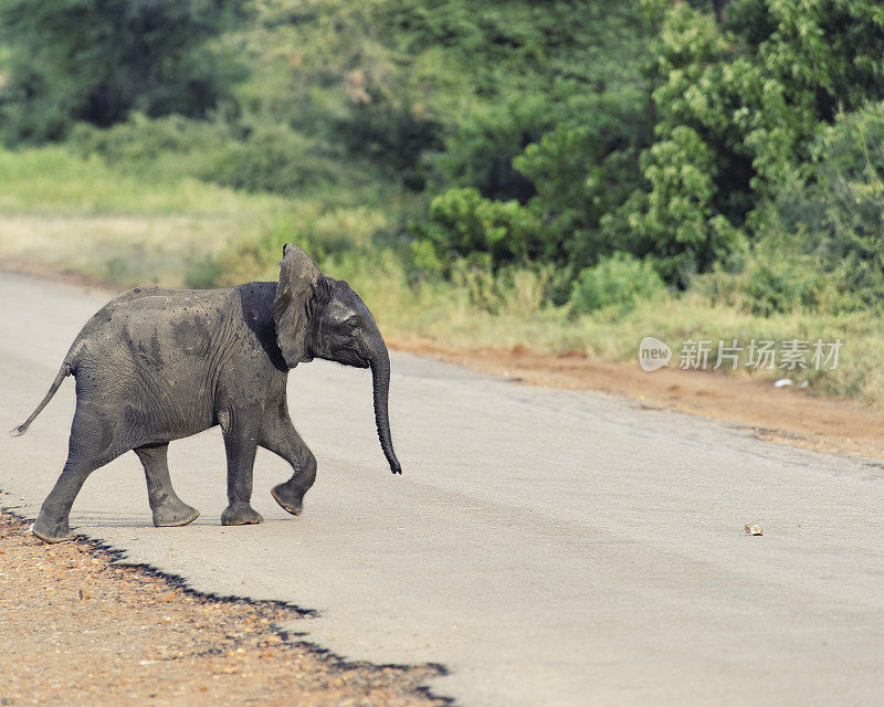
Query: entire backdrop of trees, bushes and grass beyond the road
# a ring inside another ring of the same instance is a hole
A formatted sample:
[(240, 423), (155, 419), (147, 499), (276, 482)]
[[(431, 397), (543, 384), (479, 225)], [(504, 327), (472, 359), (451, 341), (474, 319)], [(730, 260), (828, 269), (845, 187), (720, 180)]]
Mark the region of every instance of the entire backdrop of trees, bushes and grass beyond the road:
[(883, 52), (872, 0), (0, 0), (0, 252), (210, 287), (291, 240), (393, 335), (840, 338), (758, 373), (882, 405)]

